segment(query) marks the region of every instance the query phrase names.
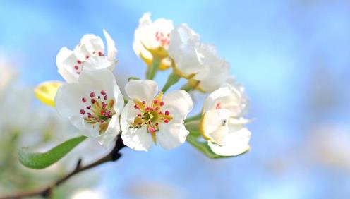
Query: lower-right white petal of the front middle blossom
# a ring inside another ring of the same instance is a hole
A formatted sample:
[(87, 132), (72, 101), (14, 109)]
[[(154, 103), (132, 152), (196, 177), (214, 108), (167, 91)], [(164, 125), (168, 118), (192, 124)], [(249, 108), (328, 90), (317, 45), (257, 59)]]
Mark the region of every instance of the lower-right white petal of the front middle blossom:
[(159, 144), (166, 150), (178, 147), (186, 141), (188, 130), (185, 128), (183, 121), (170, 121), (169, 123), (159, 123), (157, 133)]

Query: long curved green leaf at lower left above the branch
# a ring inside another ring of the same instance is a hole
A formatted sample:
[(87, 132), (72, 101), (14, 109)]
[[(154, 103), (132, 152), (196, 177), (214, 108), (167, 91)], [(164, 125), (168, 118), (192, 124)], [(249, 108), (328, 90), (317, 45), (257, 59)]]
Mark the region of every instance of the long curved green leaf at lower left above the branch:
[(64, 143), (57, 145), (48, 152), (28, 152), (28, 149), (23, 148), (18, 150), (20, 163), (30, 169), (44, 169), (59, 161), (68, 152), (73, 150), (79, 143), (83, 142), (87, 137), (79, 136), (66, 140)]

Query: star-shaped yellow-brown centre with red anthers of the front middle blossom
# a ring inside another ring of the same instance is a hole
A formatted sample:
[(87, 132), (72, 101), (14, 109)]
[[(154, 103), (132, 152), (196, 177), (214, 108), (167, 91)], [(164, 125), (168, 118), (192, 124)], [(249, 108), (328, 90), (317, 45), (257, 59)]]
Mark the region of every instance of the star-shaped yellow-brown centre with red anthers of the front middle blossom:
[(159, 123), (169, 123), (173, 119), (169, 111), (162, 111), (162, 107), (164, 106), (162, 95), (163, 93), (159, 92), (149, 106), (145, 101), (134, 100), (134, 108), (138, 109), (139, 112), (130, 126), (131, 128), (141, 128), (147, 125), (147, 132), (152, 135), (155, 144), (157, 144), (156, 133), (159, 131)]

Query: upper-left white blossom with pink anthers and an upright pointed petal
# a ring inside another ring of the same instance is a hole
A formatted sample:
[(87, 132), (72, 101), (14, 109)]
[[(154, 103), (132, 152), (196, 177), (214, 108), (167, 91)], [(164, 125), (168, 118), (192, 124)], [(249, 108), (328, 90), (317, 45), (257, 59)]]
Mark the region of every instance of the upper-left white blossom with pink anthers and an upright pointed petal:
[(83, 70), (114, 69), (117, 49), (106, 30), (103, 30), (103, 34), (107, 42), (107, 54), (104, 54), (101, 37), (92, 34), (84, 35), (73, 50), (61, 48), (56, 56), (56, 64), (64, 80), (68, 83), (76, 82)]

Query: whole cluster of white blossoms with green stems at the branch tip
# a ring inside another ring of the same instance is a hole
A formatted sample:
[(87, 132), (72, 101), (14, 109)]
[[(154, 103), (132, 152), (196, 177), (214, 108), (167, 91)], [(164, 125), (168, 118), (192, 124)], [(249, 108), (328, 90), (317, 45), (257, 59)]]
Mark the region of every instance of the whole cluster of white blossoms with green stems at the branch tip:
[[(152, 144), (169, 150), (186, 140), (194, 146), (205, 143), (219, 156), (249, 150), (246, 92), (214, 45), (202, 42), (185, 23), (152, 21), (145, 13), (133, 49), (147, 65), (146, 78), (129, 78), (125, 88), (119, 88), (113, 73), (118, 50), (107, 31), (103, 33), (106, 44), (97, 35), (84, 35), (73, 50), (62, 48), (56, 64), (66, 83), (59, 83), (52, 95), (38, 95), (47, 104), (53, 96), (51, 105), (82, 135), (108, 147), (121, 133), (125, 145), (141, 151)], [(163, 70), (171, 74), (159, 89), (153, 78)], [(168, 92), (181, 78), (187, 81), (181, 90)], [(208, 94), (197, 116), (188, 117), (197, 105), (189, 92)]]

